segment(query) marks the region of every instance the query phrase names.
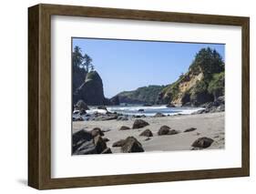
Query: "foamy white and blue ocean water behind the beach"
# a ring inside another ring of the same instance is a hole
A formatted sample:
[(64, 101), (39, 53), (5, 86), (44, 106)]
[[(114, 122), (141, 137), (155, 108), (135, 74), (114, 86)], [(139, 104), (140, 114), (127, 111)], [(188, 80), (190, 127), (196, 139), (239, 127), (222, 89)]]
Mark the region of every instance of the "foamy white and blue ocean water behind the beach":
[[(109, 112), (117, 112), (117, 113), (128, 115), (128, 116), (145, 115), (146, 117), (152, 117), (157, 113), (162, 113), (166, 116), (189, 115), (203, 108), (202, 107), (166, 107), (165, 105), (152, 106), (152, 107), (143, 107), (141, 105), (128, 105), (128, 106), (111, 106), (111, 107), (107, 107), (107, 109)], [(93, 114), (95, 112), (105, 114), (106, 110), (97, 109), (97, 107), (90, 107), (90, 110), (87, 110), (87, 114)]]

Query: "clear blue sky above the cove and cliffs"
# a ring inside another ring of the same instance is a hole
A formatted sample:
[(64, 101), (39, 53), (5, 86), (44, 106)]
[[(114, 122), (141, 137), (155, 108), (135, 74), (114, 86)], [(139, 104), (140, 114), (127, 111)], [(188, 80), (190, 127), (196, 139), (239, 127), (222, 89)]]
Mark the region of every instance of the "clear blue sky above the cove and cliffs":
[(82, 53), (93, 59), (106, 97), (138, 87), (174, 82), (188, 71), (194, 56), (203, 47), (216, 49), (223, 59), (225, 52), (221, 44), (92, 38), (73, 38), (72, 46), (81, 47)]

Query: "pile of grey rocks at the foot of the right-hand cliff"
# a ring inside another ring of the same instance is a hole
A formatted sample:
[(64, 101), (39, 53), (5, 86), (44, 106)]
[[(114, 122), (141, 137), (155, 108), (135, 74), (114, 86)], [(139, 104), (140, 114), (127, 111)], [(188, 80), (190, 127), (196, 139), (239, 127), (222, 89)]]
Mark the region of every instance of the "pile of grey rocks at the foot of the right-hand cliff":
[(208, 102), (201, 107), (205, 109), (201, 109), (193, 114), (202, 114), (202, 113), (215, 113), (225, 111), (225, 97), (218, 97), (213, 102)]

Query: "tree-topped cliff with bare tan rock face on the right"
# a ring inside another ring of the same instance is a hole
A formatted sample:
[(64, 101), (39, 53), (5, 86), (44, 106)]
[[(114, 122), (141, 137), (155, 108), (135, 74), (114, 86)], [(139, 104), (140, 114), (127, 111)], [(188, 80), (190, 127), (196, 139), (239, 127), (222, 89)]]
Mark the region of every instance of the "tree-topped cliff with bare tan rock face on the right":
[(159, 104), (199, 107), (224, 95), (224, 61), (216, 50), (203, 48), (189, 71), (159, 92)]

